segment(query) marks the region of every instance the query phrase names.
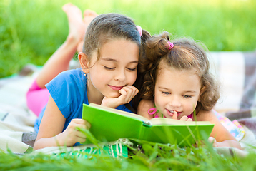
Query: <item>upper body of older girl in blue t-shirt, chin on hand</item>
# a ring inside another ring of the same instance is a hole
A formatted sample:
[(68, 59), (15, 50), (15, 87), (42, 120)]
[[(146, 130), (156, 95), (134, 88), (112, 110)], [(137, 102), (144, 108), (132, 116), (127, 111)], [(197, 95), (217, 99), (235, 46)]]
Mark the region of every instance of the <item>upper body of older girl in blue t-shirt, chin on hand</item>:
[(102, 14), (92, 20), (78, 56), (81, 68), (64, 71), (46, 84), (50, 95), (37, 120), (40, 127), (34, 149), (84, 142), (85, 136), (76, 129), (86, 128), (81, 119), (83, 103), (130, 111), (124, 104), (138, 93), (132, 85), (137, 78), (141, 33), (120, 14)]

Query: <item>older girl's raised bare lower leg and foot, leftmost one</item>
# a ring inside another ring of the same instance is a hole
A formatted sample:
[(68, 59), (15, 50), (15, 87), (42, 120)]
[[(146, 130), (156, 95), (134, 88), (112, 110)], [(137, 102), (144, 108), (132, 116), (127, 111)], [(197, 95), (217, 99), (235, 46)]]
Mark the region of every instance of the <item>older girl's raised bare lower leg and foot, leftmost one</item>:
[(36, 83), (40, 88), (45, 88), (46, 83), (49, 83), (51, 79), (69, 68), (69, 62), (76, 53), (77, 46), (82, 41), (85, 33), (82, 11), (70, 3), (65, 4), (62, 9), (67, 14), (69, 21), (69, 35), (66, 41), (46, 61), (36, 78)]

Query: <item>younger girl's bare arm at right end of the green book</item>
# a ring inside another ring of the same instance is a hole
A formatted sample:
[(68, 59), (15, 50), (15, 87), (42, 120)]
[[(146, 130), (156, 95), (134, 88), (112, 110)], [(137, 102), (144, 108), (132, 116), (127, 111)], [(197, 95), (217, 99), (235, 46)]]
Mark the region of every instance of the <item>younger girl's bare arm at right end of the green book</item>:
[[(215, 113), (210, 111), (203, 111), (197, 114), (198, 121), (210, 121), (215, 124), (210, 137), (215, 138), (217, 143), (213, 143), (215, 147), (236, 147), (242, 149), (240, 143), (235, 137), (220, 123)], [(214, 141), (214, 140), (211, 140)]]

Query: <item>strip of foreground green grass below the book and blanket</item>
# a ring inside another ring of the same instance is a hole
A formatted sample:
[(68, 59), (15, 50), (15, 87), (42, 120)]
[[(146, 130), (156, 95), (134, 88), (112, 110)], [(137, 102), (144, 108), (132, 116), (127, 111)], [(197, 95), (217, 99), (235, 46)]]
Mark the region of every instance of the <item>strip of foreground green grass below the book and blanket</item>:
[(253, 153), (247, 157), (231, 157), (217, 154), (212, 147), (179, 148), (149, 142), (143, 142), (142, 150), (131, 148), (128, 158), (83, 152), (79, 157), (0, 152), (0, 170), (256, 170), (256, 155)]

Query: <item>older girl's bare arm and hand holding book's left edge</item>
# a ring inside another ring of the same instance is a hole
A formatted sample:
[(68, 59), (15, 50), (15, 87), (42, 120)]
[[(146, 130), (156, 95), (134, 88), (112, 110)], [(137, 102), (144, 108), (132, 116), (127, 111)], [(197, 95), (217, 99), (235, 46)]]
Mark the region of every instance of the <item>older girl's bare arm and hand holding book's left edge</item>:
[(73, 119), (64, 132), (66, 118), (62, 115), (51, 95), (41, 119), (39, 133), (34, 143), (34, 150), (44, 147), (72, 146), (76, 142), (84, 142), (85, 135), (76, 128), (86, 128), (86, 121), (83, 119)]

